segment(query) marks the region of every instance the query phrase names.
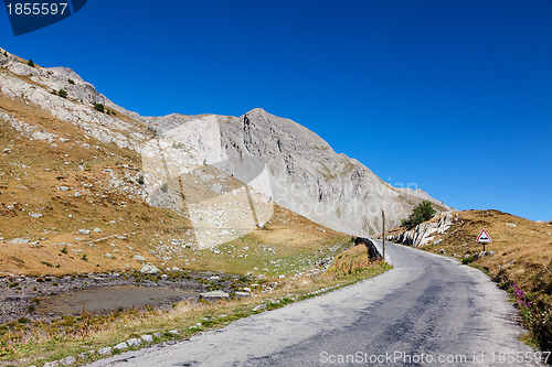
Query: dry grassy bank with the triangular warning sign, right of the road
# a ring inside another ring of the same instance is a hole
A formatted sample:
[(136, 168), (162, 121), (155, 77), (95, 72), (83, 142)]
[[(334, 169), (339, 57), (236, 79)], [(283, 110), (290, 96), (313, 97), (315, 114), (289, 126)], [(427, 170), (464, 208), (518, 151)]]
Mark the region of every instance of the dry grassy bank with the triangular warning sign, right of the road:
[[(498, 211), (485, 212), (486, 245), (492, 256), (479, 257), (476, 242), (484, 225), (481, 211), (455, 213), (453, 226), (422, 249), (445, 252), (489, 273), (512, 295), (520, 315), (543, 349), (552, 347), (552, 225)], [(433, 220), (437, 220), (434, 218)], [(399, 229), (400, 230), (400, 229)], [(395, 230), (396, 231), (396, 230)], [(439, 241), (440, 240), (440, 241)], [(436, 242), (436, 244), (434, 244)], [(517, 293), (517, 294), (516, 294)]]

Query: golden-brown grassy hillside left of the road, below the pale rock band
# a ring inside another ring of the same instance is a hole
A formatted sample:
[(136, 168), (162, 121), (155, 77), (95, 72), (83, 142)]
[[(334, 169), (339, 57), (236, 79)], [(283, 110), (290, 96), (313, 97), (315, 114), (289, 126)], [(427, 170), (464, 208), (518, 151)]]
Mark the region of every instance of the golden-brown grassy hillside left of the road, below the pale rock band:
[(57, 136), (33, 139), (0, 119), (0, 276), (139, 270), (142, 262), (277, 276), (300, 271), (349, 241), (276, 206), (264, 229), (216, 252), (197, 250), (185, 208), (152, 207), (144, 199), (138, 153), (104, 144), (43, 109), (2, 95), (0, 111), (33, 131)]

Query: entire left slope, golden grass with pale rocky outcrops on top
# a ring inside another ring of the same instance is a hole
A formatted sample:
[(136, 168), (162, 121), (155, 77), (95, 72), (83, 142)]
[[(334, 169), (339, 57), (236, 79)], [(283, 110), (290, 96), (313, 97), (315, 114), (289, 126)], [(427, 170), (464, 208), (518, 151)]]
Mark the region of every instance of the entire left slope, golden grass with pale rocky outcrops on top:
[[(264, 228), (237, 228), (222, 239), (232, 228), (215, 228), (210, 239), (220, 249), (201, 246), (197, 235), (205, 231), (195, 230), (190, 207), (152, 203), (173, 196), (171, 187), (150, 191), (153, 184), (145, 182), (139, 151), (153, 137), (146, 119), (73, 73), (0, 56), (0, 276), (140, 270), (148, 262), (283, 274), (348, 246), (344, 234), (277, 205)], [(245, 192), (243, 183), (201, 163), (181, 179), (189, 201)], [(250, 194), (232, 209), (257, 203), (258, 194)], [(231, 208), (214, 214), (232, 217)]]

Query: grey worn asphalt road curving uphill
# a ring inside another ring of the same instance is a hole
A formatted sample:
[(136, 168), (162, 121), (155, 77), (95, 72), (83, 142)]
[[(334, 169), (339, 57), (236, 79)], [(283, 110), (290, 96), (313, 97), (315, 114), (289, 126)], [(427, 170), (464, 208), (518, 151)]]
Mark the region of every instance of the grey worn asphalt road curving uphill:
[(534, 365), (514, 307), (487, 276), (399, 245), (386, 253), (394, 269), (376, 278), (91, 366)]

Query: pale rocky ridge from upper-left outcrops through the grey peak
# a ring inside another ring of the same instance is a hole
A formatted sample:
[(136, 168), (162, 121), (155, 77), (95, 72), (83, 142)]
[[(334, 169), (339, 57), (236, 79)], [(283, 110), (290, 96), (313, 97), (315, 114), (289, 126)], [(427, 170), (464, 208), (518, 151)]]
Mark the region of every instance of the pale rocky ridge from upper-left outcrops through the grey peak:
[[(142, 117), (110, 101), (70, 68), (31, 67), (11, 54), (0, 56), (0, 68), (9, 72), (0, 84), (3, 95), (34, 104), (103, 143), (144, 153), (152, 139), (174, 138), (174, 144), (193, 151), (195, 162), (214, 165), (244, 183), (261, 172), (257, 181), (263, 183), (252, 183), (252, 187), (274, 203), (339, 231), (378, 234), (382, 209), (393, 226), (422, 199), (432, 201), (440, 212), (452, 209), (421, 191), (391, 186), (358, 160), (335, 152), (306, 127), (262, 108), (240, 117)], [(56, 95), (60, 89), (67, 98)], [(110, 114), (95, 110), (95, 104), (105, 105)], [(205, 123), (211, 128), (200, 128)], [(151, 179), (146, 195), (159, 186), (157, 177)]]

